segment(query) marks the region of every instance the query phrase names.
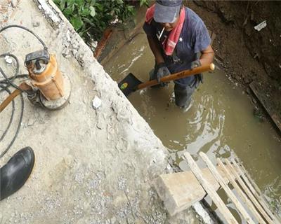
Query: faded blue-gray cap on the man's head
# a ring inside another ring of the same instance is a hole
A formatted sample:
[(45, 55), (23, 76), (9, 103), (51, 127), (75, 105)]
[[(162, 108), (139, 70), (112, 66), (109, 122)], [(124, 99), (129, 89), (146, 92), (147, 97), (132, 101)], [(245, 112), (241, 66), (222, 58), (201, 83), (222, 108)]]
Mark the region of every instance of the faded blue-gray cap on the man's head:
[(183, 0), (157, 0), (153, 18), (155, 22), (175, 22), (181, 10)]

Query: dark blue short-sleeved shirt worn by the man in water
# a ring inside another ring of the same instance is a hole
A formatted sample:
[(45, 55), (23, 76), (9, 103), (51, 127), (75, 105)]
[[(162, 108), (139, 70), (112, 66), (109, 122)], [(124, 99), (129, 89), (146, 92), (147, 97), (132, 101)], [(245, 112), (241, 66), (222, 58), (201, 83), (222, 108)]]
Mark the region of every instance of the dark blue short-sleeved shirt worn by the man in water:
[[(148, 36), (159, 35), (163, 29), (162, 25), (152, 20), (150, 24), (145, 22), (143, 29)], [(160, 42), (169, 36), (169, 32), (164, 32)], [(205, 50), (211, 43), (211, 38), (202, 19), (190, 8), (185, 7), (185, 21), (181, 35), (172, 56), (168, 56), (162, 50), (162, 56), (166, 66), (171, 73), (190, 69), (190, 63), (199, 58), (199, 52)], [(162, 44), (160, 44), (162, 45)], [(194, 81), (194, 76), (181, 78), (175, 83), (190, 85)]]

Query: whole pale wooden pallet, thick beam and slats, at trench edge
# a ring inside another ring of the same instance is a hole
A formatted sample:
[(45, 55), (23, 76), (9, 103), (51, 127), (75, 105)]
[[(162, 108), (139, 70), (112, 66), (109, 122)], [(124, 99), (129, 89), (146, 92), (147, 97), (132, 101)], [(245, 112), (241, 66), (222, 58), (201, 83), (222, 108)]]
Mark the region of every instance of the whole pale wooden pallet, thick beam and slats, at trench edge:
[[(207, 168), (200, 169), (189, 153), (183, 157), (191, 171), (162, 174), (155, 181), (155, 188), (164, 205), (173, 216), (191, 207), (209, 195), (227, 223), (237, 223), (216, 191), (223, 188), (246, 223), (280, 223), (244, 167), (235, 160), (217, 159), (214, 166), (207, 155), (200, 153)], [(228, 186), (231, 183), (237, 195)]]

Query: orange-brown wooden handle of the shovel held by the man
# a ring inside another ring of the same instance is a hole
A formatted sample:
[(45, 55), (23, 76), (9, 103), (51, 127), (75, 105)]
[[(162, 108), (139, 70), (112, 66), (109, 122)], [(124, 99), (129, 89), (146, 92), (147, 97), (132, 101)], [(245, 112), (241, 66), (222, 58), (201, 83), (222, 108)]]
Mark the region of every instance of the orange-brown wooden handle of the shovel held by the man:
[[(166, 83), (166, 82), (169, 82), (171, 80), (177, 80), (177, 79), (180, 79), (180, 78), (185, 78), (185, 77), (192, 76), (192, 75), (195, 75), (195, 74), (198, 74), (198, 73), (202, 73), (204, 71), (213, 71), (214, 69), (215, 69), (215, 65), (213, 63), (211, 63), (211, 64), (207, 64), (207, 65), (197, 67), (195, 69), (180, 71), (178, 73), (174, 73), (174, 74), (171, 74), (169, 76), (164, 76), (160, 80), (161, 80), (161, 82)], [(156, 79), (150, 80), (148, 82), (141, 83), (140, 85), (138, 85), (137, 90), (141, 90), (145, 87), (150, 87), (152, 85), (157, 85), (157, 84), (159, 84), (159, 83), (157, 82)]]

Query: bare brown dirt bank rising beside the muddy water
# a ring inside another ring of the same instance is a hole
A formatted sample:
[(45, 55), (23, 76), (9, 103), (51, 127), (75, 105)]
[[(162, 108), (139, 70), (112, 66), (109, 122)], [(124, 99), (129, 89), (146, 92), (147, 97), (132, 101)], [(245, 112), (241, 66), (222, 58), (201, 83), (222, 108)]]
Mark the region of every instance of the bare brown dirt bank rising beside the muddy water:
[[(216, 33), (213, 47), (226, 74), (246, 89), (256, 83), (263, 101), (281, 117), (281, 2), (188, 1), (187, 6)], [(264, 20), (267, 26), (256, 31)]]

